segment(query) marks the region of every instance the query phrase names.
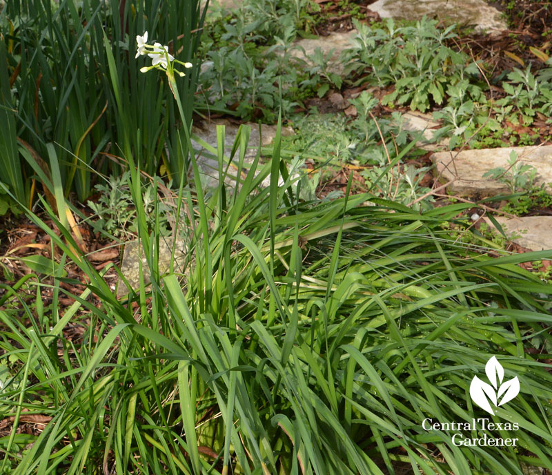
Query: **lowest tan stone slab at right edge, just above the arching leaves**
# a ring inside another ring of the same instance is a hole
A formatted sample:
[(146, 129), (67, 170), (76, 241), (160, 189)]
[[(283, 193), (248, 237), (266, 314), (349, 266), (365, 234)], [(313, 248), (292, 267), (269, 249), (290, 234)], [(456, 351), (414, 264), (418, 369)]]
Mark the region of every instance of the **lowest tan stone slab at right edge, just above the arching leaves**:
[[(493, 226), (491, 220), (485, 219)], [(552, 216), (495, 216), (495, 220), (515, 244), (532, 251), (552, 250)]]

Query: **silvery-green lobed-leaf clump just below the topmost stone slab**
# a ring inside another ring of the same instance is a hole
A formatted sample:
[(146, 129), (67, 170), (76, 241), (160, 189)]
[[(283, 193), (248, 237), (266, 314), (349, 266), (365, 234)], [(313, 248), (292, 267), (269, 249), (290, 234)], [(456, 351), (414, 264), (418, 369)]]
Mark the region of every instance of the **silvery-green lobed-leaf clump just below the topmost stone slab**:
[[(375, 79), (379, 86), (394, 84), (395, 88), (382, 99), (384, 104), (409, 104), (413, 110), (427, 110), (431, 104), (443, 104), (448, 86), (475, 78), (477, 67), (467, 55), (456, 52), (445, 41), (455, 36), (454, 26), (444, 30), (437, 21), (424, 19), (415, 26), (395, 27), (388, 20), (386, 29), (373, 30), (353, 20), (358, 34), (353, 48), (345, 55), (348, 66), (344, 74), (360, 76), (353, 84)], [(364, 75), (365, 70), (371, 72)], [(482, 89), (471, 84), (472, 99), (482, 97)]]

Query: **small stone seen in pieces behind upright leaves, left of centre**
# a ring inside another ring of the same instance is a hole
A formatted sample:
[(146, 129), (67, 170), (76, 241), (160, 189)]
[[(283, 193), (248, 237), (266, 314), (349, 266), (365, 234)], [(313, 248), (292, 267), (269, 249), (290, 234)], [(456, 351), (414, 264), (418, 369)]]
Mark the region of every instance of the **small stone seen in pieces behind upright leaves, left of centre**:
[[(164, 274), (170, 269), (170, 261), (172, 255), (172, 240), (167, 238), (164, 240), (159, 238), (159, 273)], [(144, 251), (138, 241), (130, 241), (125, 244), (123, 258), (121, 259), (121, 273), (125, 276), (134, 290), (140, 288), (140, 267), (139, 261), (142, 263), (142, 272), (144, 273), (144, 284), (146, 286), (151, 282), (150, 268), (144, 257)], [(175, 249), (175, 272), (183, 272), (184, 264), (186, 264), (186, 255), (184, 253), (184, 244), (177, 243)], [(117, 280), (117, 298), (128, 295), (129, 291), (126, 284), (119, 278)]]

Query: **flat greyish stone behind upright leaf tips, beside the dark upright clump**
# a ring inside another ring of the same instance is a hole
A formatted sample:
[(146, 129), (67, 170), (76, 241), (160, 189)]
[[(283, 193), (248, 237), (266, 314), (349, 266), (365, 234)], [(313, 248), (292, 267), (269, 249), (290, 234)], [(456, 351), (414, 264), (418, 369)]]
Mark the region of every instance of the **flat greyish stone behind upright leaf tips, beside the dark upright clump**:
[[(207, 142), (213, 148), (217, 148), (217, 125), (224, 125), (225, 134), (224, 134), (224, 155), (228, 157), (232, 151), (232, 146), (237, 137), (237, 131), (239, 125), (233, 124), (228, 119), (217, 119), (211, 122), (204, 122), (200, 126), (193, 127), (193, 133), (195, 133), (199, 138)], [(277, 126), (265, 125), (262, 124), (261, 132), (259, 134), (259, 124), (253, 124), (253, 122), (246, 122), (244, 126), (250, 126), (251, 132), (249, 135), (248, 149), (244, 157), (245, 164), (253, 163), (253, 159), (257, 155), (257, 150), (259, 146), (270, 145), (276, 137)], [(282, 127), (282, 136), (293, 135), (293, 128), (291, 127)], [(262, 142), (261, 142), (262, 135)], [(219, 164), (216, 159), (208, 157), (206, 154), (210, 154), (205, 148), (203, 148), (197, 142), (192, 141), (192, 144), (195, 149), (200, 150), (200, 155), (198, 157), (199, 166), (201, 166), (201, 171), (203, 171), (204, 176), (201, 178), (208, 188), (215, 188), (219, 184)], [(237, 164), (239, 159), (239, 148), (234, 156), (234, 162)], [(235, 176), (237, 169), (234, 167), (228, 168), (228, 178), (227, 183), (232, 184), (233, 180), (231, 176)]]

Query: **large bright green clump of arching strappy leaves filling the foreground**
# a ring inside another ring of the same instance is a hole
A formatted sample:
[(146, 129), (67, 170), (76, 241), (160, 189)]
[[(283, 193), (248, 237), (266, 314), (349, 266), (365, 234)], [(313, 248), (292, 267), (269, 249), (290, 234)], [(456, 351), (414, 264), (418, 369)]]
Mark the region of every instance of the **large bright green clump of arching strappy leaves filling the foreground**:
[[(242, 133), (236, 151), (247, 144)], [(495, 250), (500, 257), (490, 258), (477, 235), (469, 245), (451, 240), (441, 225), (469, 204), (420, 214), (367, 194), (302, 203), (279, 149), (277, 135), (272, 160), (260, 165), (257, 156), (232, 195), (221, 185), (203, 202), (199, 190), (181, 188), (179, 200), (197, 200), (185, 282), (155, 272), (159, 235), (149, 233), (131, 171), (153, 284), (128, 301), (117, 301), (101, 273), (75, 255), (64, 242), (72, 242), (68, 231), (58, 236), (29, 213), (90, 285), (61, 316), (57, 293), (72, 296), (61, 282), (39, 319), (28, 305), (0, 310), (1, 361), (9, 355), (10, 375), (21, 376), (0, 396), (1, 413), (13, 417), (0, 440), (1, 469), (382, 475), (380, 467), (393, 473), (400, 462), (426, 473), (520, 475), (521, 463), (552, 468), (543, 423), (552, 377), (524, 351), (531, 345), (524, 336), (549, 323), (551, 291), (517, 266), (550, 251)], [(224, 159), (221, 149), (217, 155)], [(257, 188), (266, 178), (270, 193)], [(88, 303), (92, 291), (98, 307)], [(0, 305), (17, 298), (10, 289)], [(64, 331), (69, 324), (83, 326), (81, 338)], [(478, 447), (475, 459), (472, 447), (453, 445), (451, 432), (428, 433), (421, 423), (480, 416), (466, 394), (491, 355), (523, 388), (496, 418), (520, 428), (479, 435), (515, 437), (524, 450)], [(32, 414), (46, 421), (43, 429), (19, 432)]]

